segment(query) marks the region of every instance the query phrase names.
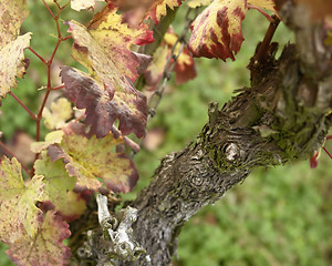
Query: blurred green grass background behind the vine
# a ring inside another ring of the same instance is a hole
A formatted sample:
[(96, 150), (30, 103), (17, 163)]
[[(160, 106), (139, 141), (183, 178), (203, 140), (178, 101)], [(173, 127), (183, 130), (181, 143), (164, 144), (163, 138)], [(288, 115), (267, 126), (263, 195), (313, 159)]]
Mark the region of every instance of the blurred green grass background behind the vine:
[[(28, 1), (29, 2), (29, 1)], [(23, 30), (34, 32), (32, 48), (41, 54), (52, 52), (55, 39), (53, 21), (40, 4), (30, 1), (31, 16)], [(175, 31), (184, 25), (186, 8), (178, 11)], [(91, 14), (90, 14), (91, 17)], [(65, 11), (63, 19), (86, 21), (89, 17)], [(243, 21), (246, 41), (235, 62), (197, 59), (198, 76), (184, 85), (172, 81), (157, 115), (151, 121), (151, 143), (135, 162), (141, 180), (135, 190), (124, 195), (135, 198), (148, 185), (160, 158), (178, 151), (197, 136), (207, 122), (207, 105), (218, 101), (222, 105), (235, 89), (249, 85), (246, 65), (256, 44), (263, 38), (268, 21), (257, 11), (249, 11)], [(65, 27), (63, 27), (63, 32)], [(282, 47), (292, 34), (280, 25), (274, 41)], [(70, 44), (62, 44), (60, 64), (73, 64), (68, 57)], [(28, 54), (28, 53), (27, 53)], [(31, 53), (29, 53), (31, 55)], [(31, 109), (39, 96), (37, 89), (45, 84), (43, 65), (34, 58), (28, 75), (14, 90)], [(40, 92), (41, 93), (41, 92)], [(18, 129), (34, 135), (34, 124), (12, 99), (7, 98), (0, 109), (0, 131), (9, 140)], [(18, 115), (19, 114), (19, 115)], [(332, 151), (332, 144), (326, 143)], [(278, 168), (258, 168), (241, 185), (230, 190), (214, 206), (207, 206), (184, 227), (178, 241), (177, 266), (323, 266), (332, 265), (332, 190), (331, 160), (322, 153), (318, 168), (309, 161), (295, 162)], [(12, 265), (0, 246), (0, 265)]]

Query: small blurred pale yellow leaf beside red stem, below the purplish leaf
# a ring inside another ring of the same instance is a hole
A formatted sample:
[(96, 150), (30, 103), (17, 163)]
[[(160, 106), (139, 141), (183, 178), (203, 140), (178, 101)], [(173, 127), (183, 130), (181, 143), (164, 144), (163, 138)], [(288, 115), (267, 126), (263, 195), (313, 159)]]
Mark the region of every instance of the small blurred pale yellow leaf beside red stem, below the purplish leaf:
[(72, 115), (72, 105), (65, 98), (58, 99), (52, 102), (51, 110), (45, 108), (43, 111), (44, 124), (48, 130), (60, 130)]

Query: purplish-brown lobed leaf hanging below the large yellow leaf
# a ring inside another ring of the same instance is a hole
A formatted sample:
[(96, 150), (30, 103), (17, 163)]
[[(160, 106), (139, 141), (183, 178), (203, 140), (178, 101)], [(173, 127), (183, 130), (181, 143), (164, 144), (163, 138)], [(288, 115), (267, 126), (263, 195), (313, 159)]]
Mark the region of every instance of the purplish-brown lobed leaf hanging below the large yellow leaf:
[(134, 132), (142, 137), (145, 134), (147, 108), (143, 93), (112, 94), (102, 82), (70, 66), (64, 66), (61, 75), (64, 93), (79, 109), (86, 109), (85, 123), (92, 125), (97, 137), (106, 136), (116, 119), (123, 135)]

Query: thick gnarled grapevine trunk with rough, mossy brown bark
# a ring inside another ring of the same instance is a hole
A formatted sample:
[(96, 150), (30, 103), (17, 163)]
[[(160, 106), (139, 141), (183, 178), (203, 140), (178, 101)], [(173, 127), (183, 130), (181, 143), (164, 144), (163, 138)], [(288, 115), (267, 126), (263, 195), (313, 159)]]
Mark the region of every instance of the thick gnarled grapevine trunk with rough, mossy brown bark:
[[(129, 235), (146, 254), (131, 263), (117, 257), (108, 265), (169, 265), (181, 227), (203, 206), (252, 168), (309, 158), (324, 142), (332, 120), (331, 47), (323, 43), (322, 23), (312, 24), (307, 9), (282, 2), (282, 18), (298, 44), (287, 45), (279, 60), (276, 43), (260, 61), (253, 57), (251, 88), (238, 91), (220, 110), (211, 103), (197, 140), (162, 161), (132, 204), (137, 221)], [(101, 238), (94, 237), (93, 253), (98, 265), (106, 265)]]

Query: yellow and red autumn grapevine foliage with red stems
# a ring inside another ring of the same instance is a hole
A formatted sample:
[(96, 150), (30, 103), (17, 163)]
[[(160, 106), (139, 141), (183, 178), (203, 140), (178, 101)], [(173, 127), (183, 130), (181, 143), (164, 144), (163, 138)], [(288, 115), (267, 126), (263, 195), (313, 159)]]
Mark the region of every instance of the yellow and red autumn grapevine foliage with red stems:
[[(0, 158), (0, 239), (9, 245), (7, 253), (13, 262), (24, 266), (66, 265), (70, 248), (62, 242), (71, 234), (68, 223), (85, 212), (86, 195), (101, 188), (126, 193), (135, 186), (138, 174), (124, 146), (139, 150), (127, 135), (145, 135), (145, 91), (157, 88), (169, 71), (168, 63), (174, 62), (172, 55), (181, 52), (174, 71), (178, 84), (187, 82), (196, 76), (193, 55), (235, 60), (243, 41), (241, 22), (248, 8), (276, 12), (272, 0), (189, 0), (190, 8), (207, 8), (191, 24), (188, 47), (181, 50), (178, 35), (169, 28), (153, 57), (148, 57), (133, 52), (136, 45), (154, 41), (148, 23), (158, 24), (167, 10), (178, 8), (183, 0), (71, 0), (71, 8), (82, 12), (93, 10), (96, 2), (104, 4), (87, 25), (65, 21), (71, 38), (63, 38), (59, 27), (66, 6), (53, 2), (58, 13), (43, 1), (59, 31), (48, 61), (29, 47), (31, 32), (20, 35), (29, 14), (27, 1), (0, 0), (0, 100), (12, 94), (17, 78), (23, 78), (29, 65), (24, 58), (28, 48), (48, 70), (40, 112), (34, 115), (30, 111), (37, 121), (37, 142), (31, 145), (35, 160), (31, 171), (23, 168), (31, 178), (23, 180), (15, 157)], [(63, 89), (66, 98), (45, 108), (54, 89), (51, 64), (60, 43), (69, 39), (73, 42), (72, 57), (87, 71), (63, 65), (63, 85), (58, 89)], [(134, 85), (142, 74), (145, 91)], [(81, 110), (79, 116), (73, 117), (73, 108)], [(42, 119), (50, 132), (41, 141)]]

